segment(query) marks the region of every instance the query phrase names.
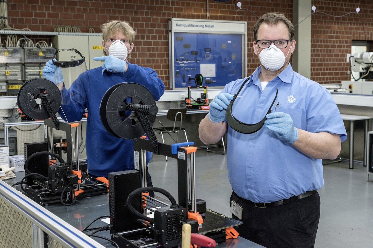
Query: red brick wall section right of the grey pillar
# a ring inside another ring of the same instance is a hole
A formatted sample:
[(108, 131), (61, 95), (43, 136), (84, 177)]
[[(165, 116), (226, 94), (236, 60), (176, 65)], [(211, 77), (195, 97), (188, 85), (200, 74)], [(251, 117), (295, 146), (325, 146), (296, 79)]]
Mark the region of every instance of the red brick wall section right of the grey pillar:
[[(373, 2), (320, 0), (312, 4), (316, 13), (312, 14), (311, 22), (311, 79), (323, 84), (348, 81), (350, 63), (346, 62), (346, 54), (351, 53), (352, 40), (373, 39)], [(355, 11), (357, 7), (359, 14)], [(333, 16), (354, 13), (331, 17), (317, 11)]]

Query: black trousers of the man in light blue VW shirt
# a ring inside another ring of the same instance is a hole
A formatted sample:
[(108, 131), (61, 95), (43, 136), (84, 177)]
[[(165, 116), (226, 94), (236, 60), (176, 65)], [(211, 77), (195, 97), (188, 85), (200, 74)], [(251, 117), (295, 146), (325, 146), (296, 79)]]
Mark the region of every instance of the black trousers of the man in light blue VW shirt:
[[(239, 236), (267, 248), (314, 248), (320, 219), (320, 196), (311, 196), (271, 208), (257, 208), (232, 193), (242, 206), (243, 224), (236, 227)], [(233, 219), (238, 219), (233, 215)]]

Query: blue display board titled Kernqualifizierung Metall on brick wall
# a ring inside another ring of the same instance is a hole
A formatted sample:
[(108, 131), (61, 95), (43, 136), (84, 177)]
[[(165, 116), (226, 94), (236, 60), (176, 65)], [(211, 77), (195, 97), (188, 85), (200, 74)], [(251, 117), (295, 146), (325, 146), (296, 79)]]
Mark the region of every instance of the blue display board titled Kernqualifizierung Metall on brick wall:
[(172, 89), (203, 85), (223, 88), (243, 78), (246, 68), (246, 22), (170, 19), (170, 72)]

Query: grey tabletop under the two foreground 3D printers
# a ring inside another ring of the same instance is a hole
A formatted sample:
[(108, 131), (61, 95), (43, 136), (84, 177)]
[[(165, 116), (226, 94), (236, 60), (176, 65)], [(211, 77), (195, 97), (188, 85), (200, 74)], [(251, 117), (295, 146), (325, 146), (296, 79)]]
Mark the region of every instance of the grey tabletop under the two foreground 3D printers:
[[(13, 179), (4, 180), (9, 185), (21, 181), (25, 172), (16, 172), (16, 177)], [(44, 206), (48, 211), (63, 219), (78, 230), (82, 230), (94, 219), (100, 216), (109, 216), (109, 194), (96, 195), (87, 197), (82, 200), (76, 201), (71, 206), (64, 206), (61, 203), (53, 203)], [(105, 219), (105, 218), (103, 218)], [(95, 221), (90, 228), (104, 226), (106, 223), (103, 221)], [(98, 232), (96, 235), (103, 236), (110, 239), (110, 231)], [(100, 238), (93, 238), (104, 247), (114, 247), (109, 241)], [(236, 239), (227, 239), (226, 242), (221, 242), (216, 245), (217, 248), (264, 248), (247, 239), (238, 237)]]

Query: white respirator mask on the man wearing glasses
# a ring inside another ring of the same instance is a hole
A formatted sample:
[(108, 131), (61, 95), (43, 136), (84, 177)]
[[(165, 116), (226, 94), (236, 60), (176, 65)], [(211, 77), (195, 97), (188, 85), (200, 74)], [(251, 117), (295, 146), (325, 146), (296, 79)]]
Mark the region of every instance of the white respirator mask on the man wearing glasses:
[(273, 44), (270, 45), (269, 48), (265, 48), (260, 52), (259, 59), (261, 65), (270, 71), (277, 71), (285, 63), (285, 55), (283, 55), (283, 52)]

